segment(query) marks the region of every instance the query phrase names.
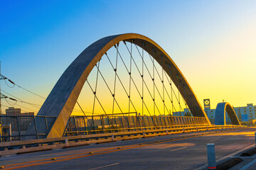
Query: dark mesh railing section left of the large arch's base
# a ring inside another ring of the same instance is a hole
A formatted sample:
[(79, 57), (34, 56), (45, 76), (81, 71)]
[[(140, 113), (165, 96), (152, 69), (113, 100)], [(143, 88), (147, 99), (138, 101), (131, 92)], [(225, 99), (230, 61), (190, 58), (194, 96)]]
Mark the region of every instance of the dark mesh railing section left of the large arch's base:
[[(11, 142), (23, 140), (25, 137), (36, 136), (36, 139), (46, 138), (48, 129), (54, 123), (55, 117), (41, 115), (1, 115), (0, 140)], [(31, 132), (26, 132), (31, 127)]]

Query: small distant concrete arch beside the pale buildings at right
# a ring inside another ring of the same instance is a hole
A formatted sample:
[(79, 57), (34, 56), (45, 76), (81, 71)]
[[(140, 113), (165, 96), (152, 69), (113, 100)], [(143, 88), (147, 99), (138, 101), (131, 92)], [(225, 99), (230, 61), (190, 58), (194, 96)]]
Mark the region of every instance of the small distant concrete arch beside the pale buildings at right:
[(226, 125), (225, 112), (228, 113), (233, 125), (240, 125), (238, 116), (235, 114), (233, 107), (228, 102), (218, 103), (215, 111), (215, 125)]

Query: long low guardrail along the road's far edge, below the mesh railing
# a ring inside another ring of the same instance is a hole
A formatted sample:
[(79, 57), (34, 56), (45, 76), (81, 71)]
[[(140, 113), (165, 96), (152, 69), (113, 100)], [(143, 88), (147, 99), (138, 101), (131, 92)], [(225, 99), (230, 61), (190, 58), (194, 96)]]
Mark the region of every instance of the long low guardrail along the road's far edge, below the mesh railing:
[(139, 137), (150, 137), (156, 135), (170, 135), (182, 132), (193, 132), (200, 130), (218, 130), (227, 128), (243, 128), (238, 125), (212, 125), (212, 126), (183, 126), (161, 130), (139, 130), (133, 132), (112, 132), (92, 135), (78, 135), (68, 137), (57, 137), (39, 140), (25, 140), (0, 143), (0, 155), (19, 154), (26, 152), (37, 152), (41, 150), (61, 148), (68, 146), (89, 145), (92, 143), (112, 142), (114, 140), (129, 140)]

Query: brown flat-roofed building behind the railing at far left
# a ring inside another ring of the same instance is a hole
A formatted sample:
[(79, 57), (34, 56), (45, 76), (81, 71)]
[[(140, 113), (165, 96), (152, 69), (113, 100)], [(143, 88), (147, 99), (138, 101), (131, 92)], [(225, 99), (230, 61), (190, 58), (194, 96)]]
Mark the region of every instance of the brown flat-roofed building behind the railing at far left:
[(18, 132), (18, 128), (20, 131), (27, 130), (28, 126), (33, 121), (33, 115), (35, 114), (33, 112), (21, 113), (21, 108), (10, 107), (6, 109), (6, 115), (8, 117), (3, 120), (4, 124), (11, 124), (11, 130)]

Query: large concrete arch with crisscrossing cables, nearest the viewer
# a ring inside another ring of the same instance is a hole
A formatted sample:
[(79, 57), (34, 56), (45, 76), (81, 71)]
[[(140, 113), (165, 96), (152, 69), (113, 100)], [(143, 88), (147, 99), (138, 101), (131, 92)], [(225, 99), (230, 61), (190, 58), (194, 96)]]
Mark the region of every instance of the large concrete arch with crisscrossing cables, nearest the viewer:
[(205, 117), (210, 125), (210, 121), (203, 111), (201, 104), (198, 102), (191, 86), (174, 61), (171, 60), (171, 57), (156, 42), (144, 35), (126, 33), (108, 36), (92, 43), (65, 70), (38, 112), (38, 115), (56, 117), (55, 123), (49, 129), (48, 137), (62, 137), (65, 126), (82, 90), (82, 86), (85, 84), (85, 80), (91, 70), (107, 50), (121, 41), (133, 42), (139, 47), (142, 47), (159, 64), (161, 63), (161, 57), (163, 57), (163, 68), (181, 92), (193, 116)]

